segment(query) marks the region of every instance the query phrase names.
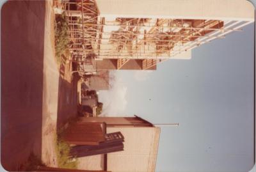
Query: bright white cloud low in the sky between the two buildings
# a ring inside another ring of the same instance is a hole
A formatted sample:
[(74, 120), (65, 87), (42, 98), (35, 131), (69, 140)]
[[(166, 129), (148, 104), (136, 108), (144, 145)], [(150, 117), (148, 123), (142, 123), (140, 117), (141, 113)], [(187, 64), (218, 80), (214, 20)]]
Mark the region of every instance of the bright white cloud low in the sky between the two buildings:
[(102, 116), (124, 116), (127, 106), (127, 86), (121, 78), (115, 76), (112, 88), (108, 91), (99, 91), (99, 101), (103, 103)]

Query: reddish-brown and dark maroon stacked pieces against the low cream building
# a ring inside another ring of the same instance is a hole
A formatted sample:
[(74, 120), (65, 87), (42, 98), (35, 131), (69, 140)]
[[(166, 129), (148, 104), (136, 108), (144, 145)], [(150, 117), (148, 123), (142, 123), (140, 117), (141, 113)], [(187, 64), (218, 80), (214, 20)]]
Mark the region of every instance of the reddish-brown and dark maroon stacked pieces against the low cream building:
[(86, 157), (124, 150), (121, 132), (106, 134), (106, 123), (75, 123), (63, 134), (63, 139), (72, 145), (71, 157)]

